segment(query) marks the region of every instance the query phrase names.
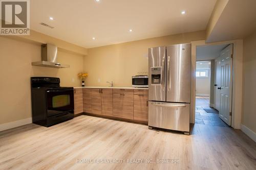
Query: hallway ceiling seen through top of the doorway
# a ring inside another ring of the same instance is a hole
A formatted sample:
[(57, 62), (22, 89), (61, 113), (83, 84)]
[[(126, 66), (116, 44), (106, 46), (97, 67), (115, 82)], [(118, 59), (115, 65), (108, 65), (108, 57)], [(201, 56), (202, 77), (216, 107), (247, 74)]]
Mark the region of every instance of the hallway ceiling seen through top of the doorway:
[(207, 45), (197, 47), (197, 61), (214, 60), (228, 44)]

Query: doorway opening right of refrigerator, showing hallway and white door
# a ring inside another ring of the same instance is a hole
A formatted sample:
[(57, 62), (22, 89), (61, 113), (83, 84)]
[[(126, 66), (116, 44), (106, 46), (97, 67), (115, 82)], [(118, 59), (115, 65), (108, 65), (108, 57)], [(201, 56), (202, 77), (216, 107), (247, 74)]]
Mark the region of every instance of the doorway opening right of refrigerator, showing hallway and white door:
[(197, 47), (197, 124), (231, 126), (232, 51), (232, 44)]

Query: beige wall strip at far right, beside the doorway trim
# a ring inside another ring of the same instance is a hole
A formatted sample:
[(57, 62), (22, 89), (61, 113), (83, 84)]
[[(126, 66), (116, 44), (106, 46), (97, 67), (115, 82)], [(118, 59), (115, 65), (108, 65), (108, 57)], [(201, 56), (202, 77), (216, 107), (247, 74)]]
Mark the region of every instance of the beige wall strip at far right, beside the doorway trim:
[(242, 124), (256, 133), (256, 31), (244, 39)]

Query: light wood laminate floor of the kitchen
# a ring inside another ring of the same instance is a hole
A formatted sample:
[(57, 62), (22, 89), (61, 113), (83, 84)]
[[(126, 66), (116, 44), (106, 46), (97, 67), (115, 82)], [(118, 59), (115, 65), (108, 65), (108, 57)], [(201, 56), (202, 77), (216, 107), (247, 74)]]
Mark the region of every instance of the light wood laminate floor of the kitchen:
[[(77, 159), (125, 159), (77, 163)], [(152, 159), (153, 163), (127, 163)], [(179, 163), (154, 163), (176, 159)], [(0, 132), (0, 169), (256, 169), (255, 142), (240, 130), (195, 124), (191, 135), (81, 115), (50, 128)]]

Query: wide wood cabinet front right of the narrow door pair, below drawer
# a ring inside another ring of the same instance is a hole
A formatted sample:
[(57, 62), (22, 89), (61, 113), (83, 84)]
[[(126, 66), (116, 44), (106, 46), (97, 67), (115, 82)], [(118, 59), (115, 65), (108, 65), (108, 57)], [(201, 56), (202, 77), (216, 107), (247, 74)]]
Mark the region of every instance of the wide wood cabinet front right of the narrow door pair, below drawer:
[(133, 94), (114, 93), (113, 115), (133, 119)]

